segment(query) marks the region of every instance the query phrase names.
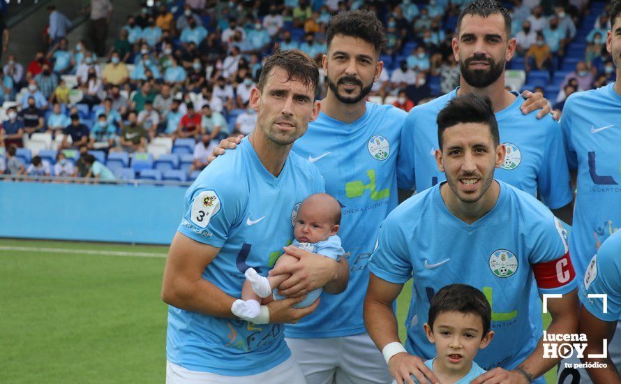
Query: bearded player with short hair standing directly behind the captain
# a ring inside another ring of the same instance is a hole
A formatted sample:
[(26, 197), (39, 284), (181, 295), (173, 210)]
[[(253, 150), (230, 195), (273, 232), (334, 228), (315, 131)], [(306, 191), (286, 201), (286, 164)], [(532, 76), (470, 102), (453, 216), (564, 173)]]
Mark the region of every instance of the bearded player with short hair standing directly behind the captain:
[(502, 3), (477, 0), (462, 10), (452, 43), (461, 70), (460, 87), (408, 113), (401, 142), (412, 145), (404, 145), (399, 152), (400, 186), (424, 191), (444, 180), (435, 166), (437, 114), (456, 96), (486, 95), (493, 101), (500, 140), (507, 149), (495, 177), (541, 196), (556, 216), (571, 224), (574, 194), (558, 123), (547, 111), (524, 115), (524, 98), (504, 89), (504, 64), (516, 47), (510, 31), (511, 19)]

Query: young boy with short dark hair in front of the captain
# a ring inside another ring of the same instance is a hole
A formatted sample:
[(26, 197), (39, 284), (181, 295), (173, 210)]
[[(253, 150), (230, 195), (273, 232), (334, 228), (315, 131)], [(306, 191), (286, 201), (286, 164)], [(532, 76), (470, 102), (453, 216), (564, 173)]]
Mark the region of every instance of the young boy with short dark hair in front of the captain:
[(441, 383), (470, 383), (485, 373), (473, 360), (494, 337), (491, 316), (485, 295), (472, 286), (451, 284), (433, 296), (423, 327), (437, 357), (425, 365)]

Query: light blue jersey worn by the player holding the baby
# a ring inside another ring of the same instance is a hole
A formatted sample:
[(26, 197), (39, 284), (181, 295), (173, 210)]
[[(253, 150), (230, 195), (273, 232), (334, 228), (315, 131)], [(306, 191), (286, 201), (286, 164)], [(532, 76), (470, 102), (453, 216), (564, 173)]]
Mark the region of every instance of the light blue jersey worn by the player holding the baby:
[[(267, 276), (293, 241), (297, 206), (320, 192), (324, 181), (313, 164), (292, 153), (274, 177), (244, 138), (239, 150), (218, 157), (190, 186), (178, 230), (220, 248), (202, 277), (239, 298), (246, 269)], [(167, 360), (190, 371), (257, 374), (290, 356), (283, 330), (282, 324), (255, 325), (170, 306)]]

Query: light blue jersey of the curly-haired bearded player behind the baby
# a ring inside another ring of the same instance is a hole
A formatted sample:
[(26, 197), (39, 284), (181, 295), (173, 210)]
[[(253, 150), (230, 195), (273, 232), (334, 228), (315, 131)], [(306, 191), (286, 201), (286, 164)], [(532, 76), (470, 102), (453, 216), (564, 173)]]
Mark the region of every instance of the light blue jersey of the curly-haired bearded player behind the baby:
[(322, 294), (317, 311), (287, 324), (294, 338), (341, 337), (366, 332), (362, 306), (368, 285), (368, 259), (380, 223), (398, 203), (396, 158), (405, 112), (391, 105), (366, 103), (351, 124), (320, 112), (293, 146), (317, 165), (326, 191), (341, 204), (341, 237), (350, 267), (347, 290)]

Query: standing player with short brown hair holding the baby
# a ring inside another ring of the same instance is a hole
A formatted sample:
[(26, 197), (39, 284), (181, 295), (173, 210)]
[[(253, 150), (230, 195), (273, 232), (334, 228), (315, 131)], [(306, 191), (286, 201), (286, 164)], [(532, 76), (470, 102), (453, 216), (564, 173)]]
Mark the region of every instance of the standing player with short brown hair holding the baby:
[[(324, 191), (317, 168), (290, 153), (319, 112), (317, 80), (317, 66), (303, 52), (267, 59), (250, 95), (258, 115), (254, 133), (238, 151), (209, 165), (186, 193), (163, 278), (162, 297), (170, 304), (167, 383), (305, 383), (282, 323), (317, 308), (319, 300), (292, 307), (304, 293), (343, 291), (347, 264), (300, 251), (297, 264), (313, 281), (301, 281), (290, 298), (264, 303), (255, 318), (237, 318), (232, 304), (241, 296), (246, 269), (267, 275), (292, 242), (296, 205)], [(322, 269), (306, 268), (310, 262)], [(291, 279), (300, 279), (299, 273)]]

